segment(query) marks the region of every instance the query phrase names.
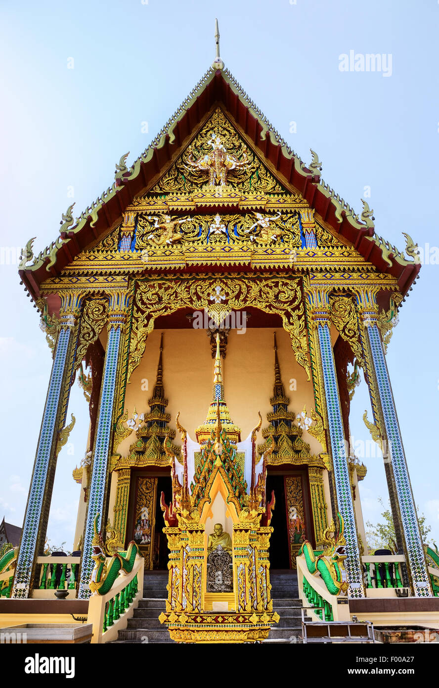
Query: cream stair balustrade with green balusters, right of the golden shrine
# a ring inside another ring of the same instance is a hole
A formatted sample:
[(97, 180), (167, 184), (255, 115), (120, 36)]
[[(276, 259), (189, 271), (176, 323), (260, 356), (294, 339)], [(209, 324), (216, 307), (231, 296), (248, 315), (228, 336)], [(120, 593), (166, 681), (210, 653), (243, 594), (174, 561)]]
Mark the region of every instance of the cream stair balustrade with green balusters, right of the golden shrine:
[(299, 597), (313, 621), (350, 621), (349, 601), (345, 595), (330, 594), (318, 571), (308, 571), (304, 555), (297, 557)]

